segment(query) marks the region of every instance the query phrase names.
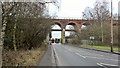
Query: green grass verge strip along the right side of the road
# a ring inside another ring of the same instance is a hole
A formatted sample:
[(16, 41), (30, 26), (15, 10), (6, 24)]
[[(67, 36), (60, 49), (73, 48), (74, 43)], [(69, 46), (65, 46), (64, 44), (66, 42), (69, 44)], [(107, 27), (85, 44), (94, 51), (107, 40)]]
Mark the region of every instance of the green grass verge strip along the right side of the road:
[[(93, 48), (93, 49), (99, 49), (99, 50), (107, 50), (107, 51), (111, 50), (110, 46), (98, 46), (98, 45), (86, 45), (86, 44), (82, 44), (80, 46), (87, 47), (87, 48)], [(119, 48), (118, 47), (113, 47), (113, 51), (114, 52), (119, 52)]]

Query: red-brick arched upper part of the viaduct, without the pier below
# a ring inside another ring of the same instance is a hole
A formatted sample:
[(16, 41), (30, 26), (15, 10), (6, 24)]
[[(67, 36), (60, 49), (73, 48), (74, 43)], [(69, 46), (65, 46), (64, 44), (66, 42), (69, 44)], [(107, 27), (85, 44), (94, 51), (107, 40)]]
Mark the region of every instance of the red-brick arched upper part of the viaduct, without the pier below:
[(52, 19), (52, 25), (57, 24), (61, 29), (65, 29), (67, 25), (72, 25), (75, 29), (80, 29), (82, 25), (90, 25), (86, 20), (81, 19)]

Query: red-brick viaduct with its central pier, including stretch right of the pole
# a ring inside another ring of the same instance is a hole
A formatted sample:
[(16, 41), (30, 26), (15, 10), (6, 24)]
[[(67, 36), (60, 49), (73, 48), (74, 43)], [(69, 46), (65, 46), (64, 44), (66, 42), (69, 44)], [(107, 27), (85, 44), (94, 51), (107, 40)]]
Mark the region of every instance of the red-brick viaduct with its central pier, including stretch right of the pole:
[[(109, 20), (108, 20), (109, 21)], [(54, 30), (51, 31), (61, 31), (61, 37), (62, 37), (62, 43), (65, 43), (65, 31), (76, 31), (80, 30), (82, 25), (88, 26), (92, 25), (94, 23), (94, 20), (83, 20), (83, 19), (51, 19), (52, 24), (57, 24), (61, 27), (60, 30)], [(118, 20), (113, 20), (113, 25), (118, 25)], [(67, 25), (73, 25), (75, 27), (75, 30), (68, 30), (65, 29)]]

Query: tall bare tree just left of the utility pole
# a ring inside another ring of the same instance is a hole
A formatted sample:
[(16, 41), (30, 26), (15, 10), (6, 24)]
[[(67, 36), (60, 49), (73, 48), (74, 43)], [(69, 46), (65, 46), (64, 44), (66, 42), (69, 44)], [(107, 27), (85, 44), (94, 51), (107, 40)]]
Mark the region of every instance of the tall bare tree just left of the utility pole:
[[(93, 30), (91, 32), (93, 32), (95, 35), (98, 35), (98, 37), (101, 38), (102, 43), (106, 43), (106, 39), (110, 37), (109, 2), (107, 2), (107, 0), (96, 0), (94, 8), (87, 7), (84, 10), (83, 18), (86, 20), (92, 20), (89, 22), (92, 23), (90, 26), (91, 28), (88, 28), (89, 31)], [(101, 34), (101, 36), (96, 32), (96, 30), (99, 34)]]

